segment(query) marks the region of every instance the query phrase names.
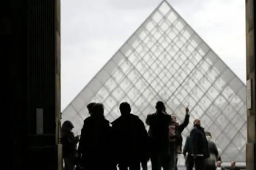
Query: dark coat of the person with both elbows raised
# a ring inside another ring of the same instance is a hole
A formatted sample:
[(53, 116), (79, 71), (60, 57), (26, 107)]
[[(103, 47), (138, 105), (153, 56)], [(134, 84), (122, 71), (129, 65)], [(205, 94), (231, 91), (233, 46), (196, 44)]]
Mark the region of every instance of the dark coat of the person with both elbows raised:
[(150, 147), (153, 152), (169, 152), (169, 125), (171, 115), (166, 113), (149, 114), (146, 124), (150, 126)]

